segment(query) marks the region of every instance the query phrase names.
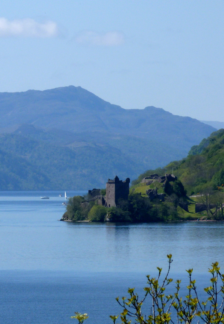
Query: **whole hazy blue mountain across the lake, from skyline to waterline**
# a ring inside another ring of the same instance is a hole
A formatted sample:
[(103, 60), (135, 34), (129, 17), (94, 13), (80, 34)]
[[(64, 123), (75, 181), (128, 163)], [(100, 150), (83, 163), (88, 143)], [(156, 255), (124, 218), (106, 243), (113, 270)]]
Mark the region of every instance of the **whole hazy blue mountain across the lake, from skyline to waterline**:
[(103, 187), (116, 174), (134, 179), (186, 156), (214, 130), (152, 106), (125, 110), (81, 87), (0, 93), (0, 150), (14, 158), (7, 165), (0, 159), (0, 169), (17, 177), (0, 190)]

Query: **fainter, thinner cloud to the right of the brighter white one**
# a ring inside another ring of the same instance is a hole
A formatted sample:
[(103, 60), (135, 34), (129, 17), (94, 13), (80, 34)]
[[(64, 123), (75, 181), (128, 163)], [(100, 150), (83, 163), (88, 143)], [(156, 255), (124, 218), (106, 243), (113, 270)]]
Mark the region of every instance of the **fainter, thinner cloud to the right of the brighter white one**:
[(124, 34), (119, 31), (108, 31), (105, 34), (83, 31), (76, 37), (76, 41), (83, 45), (118, 46), (124, 43)]

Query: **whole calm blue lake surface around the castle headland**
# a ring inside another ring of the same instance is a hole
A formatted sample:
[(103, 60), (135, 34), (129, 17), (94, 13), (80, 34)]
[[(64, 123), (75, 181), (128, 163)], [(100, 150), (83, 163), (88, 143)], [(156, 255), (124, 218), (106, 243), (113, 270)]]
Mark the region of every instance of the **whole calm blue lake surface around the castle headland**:
[(121, 312), (114, 298), (128, 287), (140, 292), (146, 274), (165, 270), (167, 253), (171, 277), (183, 283), (193, 268), (198, 286), (207, 286), (217, 260), (224, 272), (222, 222), (59, 222), (59, 193), (0, 192), (0, 323), (67, 324), (74, 311), (88, 313), (86, 324), (110, 323)]

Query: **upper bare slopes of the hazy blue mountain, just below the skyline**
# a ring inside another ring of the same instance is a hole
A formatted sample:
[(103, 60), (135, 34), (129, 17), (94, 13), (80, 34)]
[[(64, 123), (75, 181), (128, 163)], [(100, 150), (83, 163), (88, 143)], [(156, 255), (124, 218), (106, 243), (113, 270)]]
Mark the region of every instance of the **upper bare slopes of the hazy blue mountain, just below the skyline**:
[[(26, 92), (0, 93), (0, 128), (23, 123), (44, 128), (58, 128), (73, 132), (110, 131), (120, 134), (134, 134), (146, 138), (158, 131), (163, 123), (167, 128), (175, 125), (179, 129), (185, 123), (192, 123), (200, 130), (209, 126), (190, 117), (173, 115), (153, 106), (145, 109), (123, 109), (112, 105), (81, 87)], [(63, 118), (62, 118), (63, 117)], [(85, 129), (83, 130), (83, 126)], [(182, 131), (184, 131), (182, 129)], [(210, 133), (214, 131), (212, 127)], [(195, 135), (197, 135), (195, 129)], [(188, 137), (188, 133), (185, 132)]]

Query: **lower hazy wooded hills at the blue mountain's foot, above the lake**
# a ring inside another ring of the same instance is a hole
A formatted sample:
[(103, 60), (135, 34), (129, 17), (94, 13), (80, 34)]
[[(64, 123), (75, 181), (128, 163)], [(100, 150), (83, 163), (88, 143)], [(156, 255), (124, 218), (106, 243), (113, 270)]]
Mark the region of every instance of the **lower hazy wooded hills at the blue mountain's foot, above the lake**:
[(113, 147), (70, 148), (19, 134), (0, 136), (0, 171), (0, 190), (87, 190), (104, 186), (106, 174), (136, 174), (135, 163)]

